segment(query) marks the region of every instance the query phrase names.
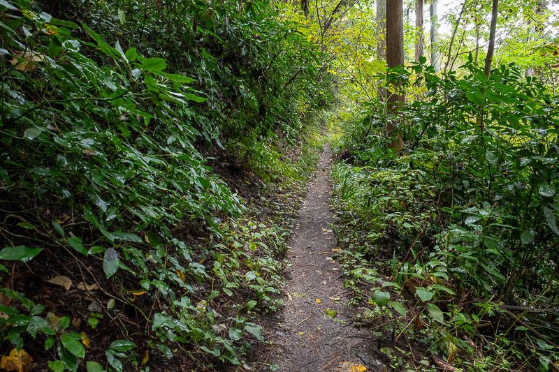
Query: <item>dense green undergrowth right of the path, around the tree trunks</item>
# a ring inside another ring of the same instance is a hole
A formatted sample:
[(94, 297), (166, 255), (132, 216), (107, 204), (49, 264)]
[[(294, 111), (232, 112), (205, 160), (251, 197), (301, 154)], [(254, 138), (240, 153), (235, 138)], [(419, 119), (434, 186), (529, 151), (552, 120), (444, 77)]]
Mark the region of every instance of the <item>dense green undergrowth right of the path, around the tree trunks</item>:
[[(470, 56), (460, 70), (391, 70), (389, 80), (423, 93), (397, 115), (371, 103), (343, 124), (346, 160), (333, 179), (341, 222), (353, 226), (340, 232), (350, 285), (374, 284), (377, 304), (387, 286), (418, 302), (412, 313), (430, 326), (417, 333), (416, 322), (408, 336), (449, 359), (489, 338), (479, 350), (491, 359), (466, 357), (467, 370), (546, 370), (559, 351), (559, 97), (512, 64), (486, 77)], [(389, 120), (407, 142), (399, 155), (386, 151)], [(379, 257), (388, 281), (372, 265)]]

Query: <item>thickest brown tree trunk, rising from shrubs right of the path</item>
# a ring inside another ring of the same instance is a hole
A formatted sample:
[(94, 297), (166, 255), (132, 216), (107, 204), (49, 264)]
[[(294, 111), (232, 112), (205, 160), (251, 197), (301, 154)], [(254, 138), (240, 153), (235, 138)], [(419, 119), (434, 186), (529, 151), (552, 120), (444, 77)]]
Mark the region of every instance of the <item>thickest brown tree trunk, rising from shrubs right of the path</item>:
[[(404, 18), (402, 0), (386, 1), (386, 64), (393, 68), (404, 64)], [(405, 103), (405, 96), (389, 94), (388, 109), (398, 112)], [(391, 140), (389, 147), (399, 151), (404, 147), (402, 137), (395, 131), (395, 122), (386, 124), (384, 135)]]

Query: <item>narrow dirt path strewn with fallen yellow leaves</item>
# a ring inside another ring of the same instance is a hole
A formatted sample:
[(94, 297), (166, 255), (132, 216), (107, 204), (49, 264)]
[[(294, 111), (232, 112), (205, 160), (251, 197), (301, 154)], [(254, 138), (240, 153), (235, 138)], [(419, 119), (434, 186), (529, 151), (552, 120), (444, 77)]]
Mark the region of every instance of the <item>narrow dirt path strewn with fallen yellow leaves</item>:
[(372, 356), (377, 345), (368, 339), (370, 334), (351, 325), (351, 307), (345, 306), (350, 293), (343, 287), (342, 268), (331, 259), (337, 248), (328, 205), (330, 168), (327, 145), (291, 237), (286, 306), (268, 325), (273, 347), (267, 363), (279, 365), (279, 371), (351, 371), (351, 365), (357, 367), (353, 371), (364, 371), (363, 366), (383, 371)]

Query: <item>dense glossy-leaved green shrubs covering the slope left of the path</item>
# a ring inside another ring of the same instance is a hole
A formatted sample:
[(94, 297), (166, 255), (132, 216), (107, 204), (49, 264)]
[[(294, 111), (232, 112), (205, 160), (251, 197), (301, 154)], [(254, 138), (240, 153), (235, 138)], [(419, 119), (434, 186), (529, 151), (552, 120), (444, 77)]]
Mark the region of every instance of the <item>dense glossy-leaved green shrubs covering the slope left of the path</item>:
[(291, 222), (231, 179), (254, 170), (266, 193), (308, 176), (307, 124), (331, 101), (317, 47), (260, 1), (0, 14), (0, 354), (53, 371), (147, 371), (177, 349), (185, 366), (239, 364)]

